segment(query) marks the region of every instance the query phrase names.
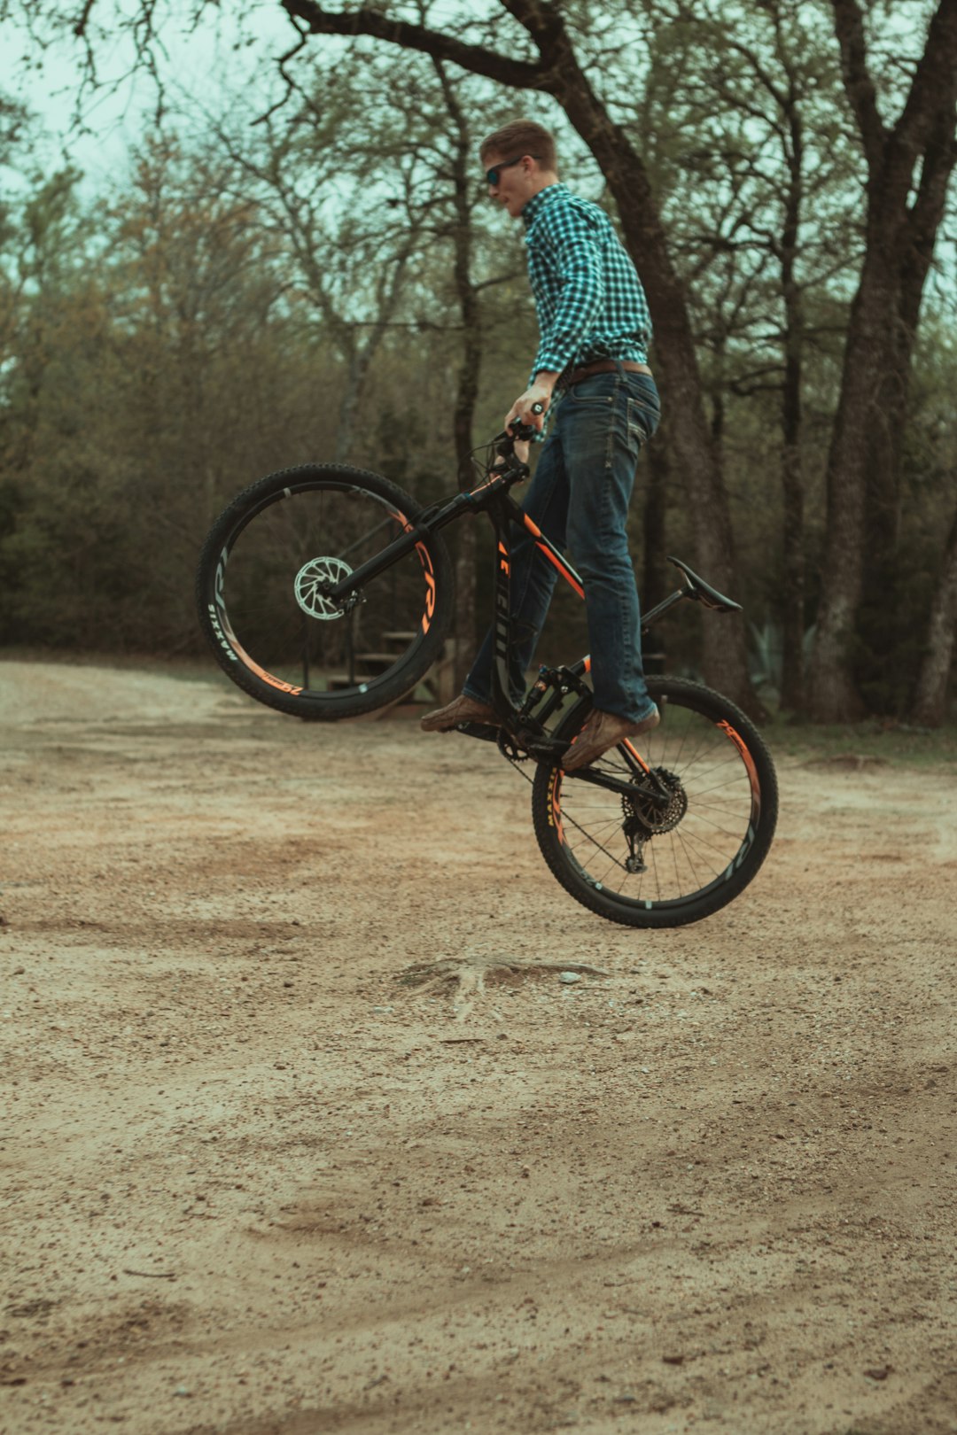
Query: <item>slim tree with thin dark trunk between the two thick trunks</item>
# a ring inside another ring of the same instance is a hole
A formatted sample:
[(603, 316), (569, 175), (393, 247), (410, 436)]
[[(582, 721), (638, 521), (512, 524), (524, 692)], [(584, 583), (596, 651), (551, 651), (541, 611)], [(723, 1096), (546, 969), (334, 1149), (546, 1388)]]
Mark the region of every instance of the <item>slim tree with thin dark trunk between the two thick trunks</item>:
[[(801, 712), (803, 389), (814, 350), (828, 340), (812, 311), (858, 250), (847, 220), (852, 169), (832, 106), (836, 60), (809, 0), (765, 0), (756, 13), (730, 16), (709, 0), (667, 9), (636, 123), (653, 136), (654, 184), (686, 280), (715, 441), (723, 446), (730, 428), (740, 451), (742, 408), (729, 425), (729, 405), (765, 400), (768, 422), (766, 397), (778, 396), (782, 561), (766, 575), (765, 603), (781, 617), (781, 703)], [(763, 507), (770, 498), (765, 482)]]

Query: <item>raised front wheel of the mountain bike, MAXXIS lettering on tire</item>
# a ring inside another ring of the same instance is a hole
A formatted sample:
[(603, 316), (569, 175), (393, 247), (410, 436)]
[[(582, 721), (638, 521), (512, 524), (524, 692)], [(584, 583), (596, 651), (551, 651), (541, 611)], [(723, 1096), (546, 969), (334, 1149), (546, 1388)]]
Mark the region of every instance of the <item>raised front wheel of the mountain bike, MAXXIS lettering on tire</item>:
[(452, 565), (422, 538), (339, 604), (323, 596), (407, 532), (420, 505), (360, 469), (308, 465), (253, 484), (199, 557), (199, 620), (224, 672), (297, 718), (353, 718), (403, 697), (442, 653)]

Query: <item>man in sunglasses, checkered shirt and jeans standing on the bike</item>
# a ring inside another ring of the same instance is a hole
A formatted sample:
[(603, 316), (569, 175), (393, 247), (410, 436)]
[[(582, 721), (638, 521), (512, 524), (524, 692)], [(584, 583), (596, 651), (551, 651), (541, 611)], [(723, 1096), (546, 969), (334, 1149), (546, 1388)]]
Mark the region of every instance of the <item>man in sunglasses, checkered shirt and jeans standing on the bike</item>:
[[(594, 709), (562, 761), (567, 772), (659, 722), (641, 666), (641, 626), (626, 522), (638, 451), (660, 406), (647, 366), (647, 303), (631, 260), (607, 215), (558, 179), (555, 141), (532, 121), (505, 125), (482, 145), (489, 197), (525, 225), (539, 344), (531, 382), (505, 418), (541, 432), (554, 408), (524, 508), (558, 547), (571, 550), (585, 593)], [(517, 445), (519, 458), (527, 446)], [(524, 535), (512, 554), (511, 697), (545, 621), (555, 570)], [(491, 705), (492, 634), (479, 649), (462, 695), (422, 719), (426, 732), (458, 723), (499, 725)]]

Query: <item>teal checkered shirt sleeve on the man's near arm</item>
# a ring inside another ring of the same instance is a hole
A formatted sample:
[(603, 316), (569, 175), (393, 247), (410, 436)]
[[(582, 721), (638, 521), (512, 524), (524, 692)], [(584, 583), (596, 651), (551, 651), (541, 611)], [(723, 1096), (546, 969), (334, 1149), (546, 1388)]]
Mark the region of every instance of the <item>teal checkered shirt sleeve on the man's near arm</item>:
[(547, 224), (544, 241), (555, 264), (558, 297), (550, 321), (541, 326), (532, 375), (541, 369), (561, 373), (595, 327), (604, 300), (601, 251), (594, 224), (572, 205), (542, 218)]

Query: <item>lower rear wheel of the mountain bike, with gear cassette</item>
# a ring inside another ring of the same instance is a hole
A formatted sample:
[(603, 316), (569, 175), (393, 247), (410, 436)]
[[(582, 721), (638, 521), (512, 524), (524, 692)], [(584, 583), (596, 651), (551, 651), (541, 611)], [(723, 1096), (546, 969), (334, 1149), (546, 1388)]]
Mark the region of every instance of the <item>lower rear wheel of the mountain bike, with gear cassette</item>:
[[(541, 763), (532, 818), (545, 861), (577, 901), (628, 927), (680, 927), (755, 877), (775, 834), (778, 781), (762, 738), (726, 697), (676, 677), (650, 679), (649, 692), (660, 726), (591, 765), (628, 791)], [(555, 738), (571, 742), (590, 710), (591, 699), (575, 703)]]

